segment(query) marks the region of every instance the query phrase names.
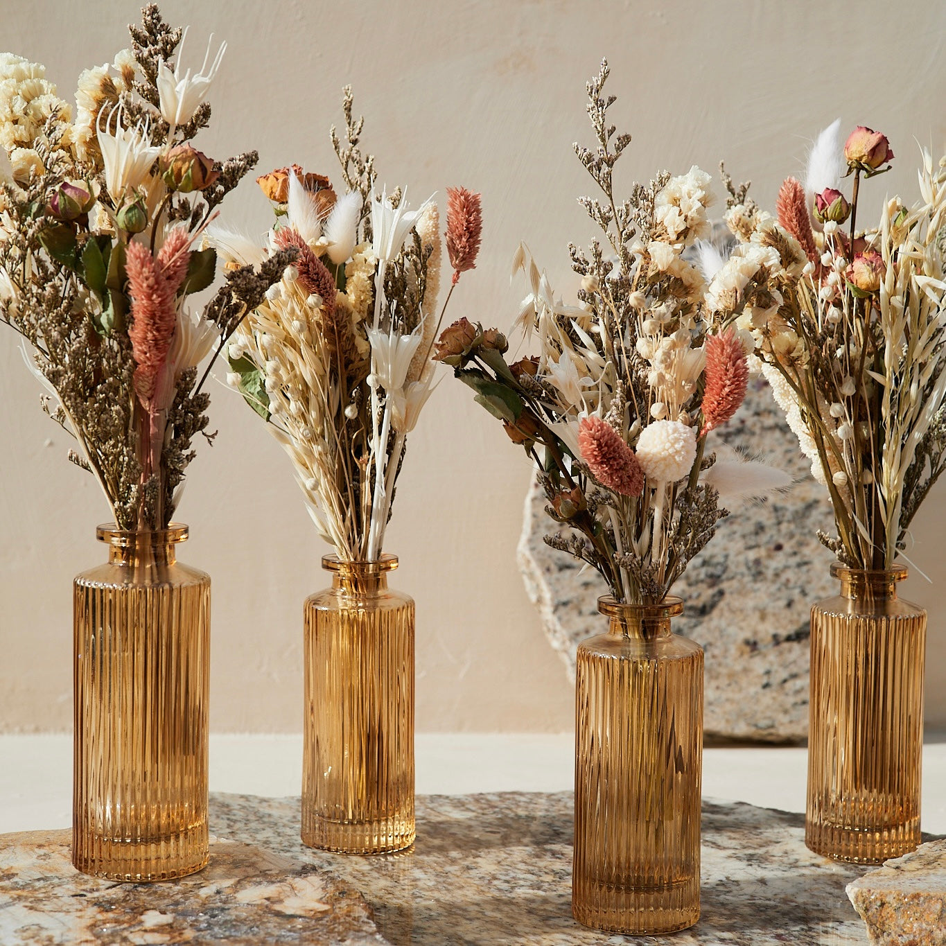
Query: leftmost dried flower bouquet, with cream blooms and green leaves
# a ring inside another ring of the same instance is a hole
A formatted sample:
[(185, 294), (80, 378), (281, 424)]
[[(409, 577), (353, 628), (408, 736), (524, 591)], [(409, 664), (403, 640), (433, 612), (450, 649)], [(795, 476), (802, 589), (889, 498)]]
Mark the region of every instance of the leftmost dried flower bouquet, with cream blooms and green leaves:
[(78, 440), (69, 459), (95, 474), (118, 527), (153, 530), (192, 439), (213, 436), (198, 365), (294, 254), (229, 272), (188, 311), (216, 270), (194, 243), (256, 154), (219, 163), (189, 144), (225, 44), (182, 75), (183, 32), (156, 6), (129, 28), (131, 49), (79, 77), (74, 121), (43, 65), (0, 54), (0, 320), (28, 342), (44, 410)]

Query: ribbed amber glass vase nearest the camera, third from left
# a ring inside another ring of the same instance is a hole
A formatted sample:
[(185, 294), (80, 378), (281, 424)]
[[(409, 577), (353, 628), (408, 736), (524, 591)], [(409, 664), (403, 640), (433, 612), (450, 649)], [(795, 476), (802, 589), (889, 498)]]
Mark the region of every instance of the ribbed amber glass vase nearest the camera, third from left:
[(657, 934), (700, 915), (703, 650), (671, 630), (679, 598), (601, 598), (607, 634), (578, 646), (575, 920)]

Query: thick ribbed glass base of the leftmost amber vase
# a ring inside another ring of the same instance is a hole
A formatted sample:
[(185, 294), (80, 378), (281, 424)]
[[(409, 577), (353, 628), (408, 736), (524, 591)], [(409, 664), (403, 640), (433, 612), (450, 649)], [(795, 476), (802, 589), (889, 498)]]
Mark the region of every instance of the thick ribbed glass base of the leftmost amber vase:
[(131, 884), (170, 881), (196, 874), (209, 860), (205, 830), (173, 834), (145, 843), (121, 838), (90, 838), (87, 834), (85, 838), (92, 850), (77, 850), (74, 845), (72, 865), (83, 874), (103, 880)]

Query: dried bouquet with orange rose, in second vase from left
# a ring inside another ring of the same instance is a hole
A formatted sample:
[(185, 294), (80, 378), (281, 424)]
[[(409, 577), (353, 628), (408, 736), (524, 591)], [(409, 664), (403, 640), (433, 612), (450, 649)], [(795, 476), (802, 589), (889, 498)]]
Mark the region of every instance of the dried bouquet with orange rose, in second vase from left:
[(480, 195), (448, 188), (453, 278), (438, 317), (442, 243), (432, 199), (410, 209), (398, 187), (377, 194), (375, 159), (359, 149), (363, 117), (344, 90), (345, 139), (331, 141), (347, 191), (282, 167), (257, 179), (276, 223), (267, 245), (213, 227), (231, 266), (298, 255), (238, 326), (228, 380), (295, 466), (309, 515), (342, 561), (376, 561), (407, 435), (433, 378), (433, 342), (460, 274), (474, 268)]

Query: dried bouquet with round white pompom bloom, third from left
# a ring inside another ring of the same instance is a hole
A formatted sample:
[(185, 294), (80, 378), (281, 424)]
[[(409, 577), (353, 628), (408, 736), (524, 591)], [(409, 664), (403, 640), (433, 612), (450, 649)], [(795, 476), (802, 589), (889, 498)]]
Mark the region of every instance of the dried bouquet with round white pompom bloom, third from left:
[(619, 203), (612, 174), (630, 135), (609, 123), (607, 76), (603, 61), (587, 84), (597, 147), (575, 145), (604, 195), (581, 202), (606, 238), (587, 253), (569, 247), (580, 305), (555, 299), (522, 245), (514, 273), (529, 273), (532, 292), (517, 325), (537, 332), (539, 355), (508, 364), (505, 336), (463, 319), (441, 335), (435, 358), (533, 458), (547, 512), (571, 530), (546, 542), (597, 569), (617, 601), (655, 604), (727, 515), (721, 500), (788, 481), (706, 450), (710, 430), (745, 396), (752, 345), (710, 318), (704, 277), (684, 255), (710, 233), (710, 176), (695, 166), (661, 173)]

